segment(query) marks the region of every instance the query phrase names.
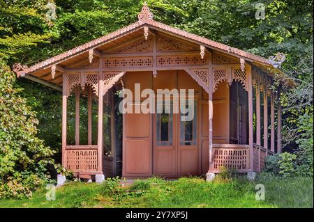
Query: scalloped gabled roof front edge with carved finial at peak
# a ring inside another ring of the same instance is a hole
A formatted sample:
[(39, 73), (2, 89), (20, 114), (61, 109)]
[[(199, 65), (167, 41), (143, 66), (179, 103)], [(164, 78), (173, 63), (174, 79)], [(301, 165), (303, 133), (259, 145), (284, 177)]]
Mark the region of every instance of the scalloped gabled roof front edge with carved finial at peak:
[[(114, 31), (108, 35), (104, 35), (96, 40), (92, 40), (90, 42), (85, 43), (84, 45), (80, 45), (75, 47), (74, 49), (70, 49), (62, 54), (54, 56), (52, 58), (48, 58), (47, 60), (37, 63), (36, 65), (32, 65), (31, 67), (27, 67), (26, 65), (21, 65), (20, 63), (13, 65), (13, 71), (17, 74), (17, 77), (24, 76), (25, 74), (32, 74), (38, 70), (43, 70), (50, 68), (52, 65), (57, 65), (63, 61), (66, 61), (70, 58), (75, 56), (79, 56), (80, 54), (87, 53), (89, 49), (97, 49), (102, 45), (107, 44), (108, 42), (112, 42), (113, 40), (117, 40), (122, 38), (130, 33), (136, 32), (139, 29), (142, 29), (144, 26), (147, 26), (151, 29), (155, 29), (157, 31), (162, 31), (165, 33), (169, 33), (171, 35), (176, 35), (180, 38), (184, 38), (185, 40), (195, 42), (200, 44), (204, 47), (208, 47), (211, 49), (215, 49), (217, 51), (222, 51), (230, 56), (235, 56), (237, 58), (244, 58), (246, 61), (250, 61), (255, 63), (256, 65), (260, 65), (264, 68), (271, 68), (274, 67), (269, 63), (266, 58), (261, 56), (257, 56), (255, 54), (251, 54), (247, 51), (237, 49), (234, 47), (230, 47), (228, 45), (224, 45), (220, 42), (215, 42), (213, 40), (209, 40), (207, 38), (203, 38), (199, 35), (195, 35), (193, 33), (188, 33), (186, 31), (182, 31), (180, 29), (174, 28), (172, 26), (168, 26), (161, 22), (156, 22), (153, 19), (153, 14), (150, 12), (149, 8), (147, 7), (146, 3), (142, 7), (142, 11), (138, 14), (138, 21), (125, 26), (122, 29)], [(276, 69), (278, 70), (278, 69)], [(279, 70), (278, 70), (279, 71)], [(279, 71), (280, 72), (280, 71)]]

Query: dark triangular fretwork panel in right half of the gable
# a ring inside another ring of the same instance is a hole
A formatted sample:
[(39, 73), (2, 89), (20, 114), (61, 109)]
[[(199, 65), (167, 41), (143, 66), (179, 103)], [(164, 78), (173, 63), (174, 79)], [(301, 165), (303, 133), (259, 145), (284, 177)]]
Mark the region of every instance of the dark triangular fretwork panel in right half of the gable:
[(195, 51), (195, 48), (191, 45), (185, 44), (184, 42), (167, 38), (163, 35), (158, 35), (157, 38), (157, 51)]

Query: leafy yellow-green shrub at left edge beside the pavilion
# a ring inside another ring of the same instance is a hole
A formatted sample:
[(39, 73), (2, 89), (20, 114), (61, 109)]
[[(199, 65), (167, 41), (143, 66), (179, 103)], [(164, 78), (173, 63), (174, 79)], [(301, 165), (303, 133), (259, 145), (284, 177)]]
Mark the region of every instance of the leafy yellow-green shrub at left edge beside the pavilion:
[(15, 75), (0, 60), (0, 198), (31, 195), (50, 180), (54, 154), (37, 134), (36, 113), (20, 95)]

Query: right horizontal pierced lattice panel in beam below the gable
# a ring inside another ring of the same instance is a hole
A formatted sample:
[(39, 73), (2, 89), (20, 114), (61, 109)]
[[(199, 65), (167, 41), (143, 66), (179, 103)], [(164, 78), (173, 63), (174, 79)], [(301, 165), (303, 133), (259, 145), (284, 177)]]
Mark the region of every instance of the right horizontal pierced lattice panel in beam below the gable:
[(207, 57), (203, 59), (200, 56), (182, 55), (182, 56), (157, 56), (158, 66), (168, 65), (206, 65)]

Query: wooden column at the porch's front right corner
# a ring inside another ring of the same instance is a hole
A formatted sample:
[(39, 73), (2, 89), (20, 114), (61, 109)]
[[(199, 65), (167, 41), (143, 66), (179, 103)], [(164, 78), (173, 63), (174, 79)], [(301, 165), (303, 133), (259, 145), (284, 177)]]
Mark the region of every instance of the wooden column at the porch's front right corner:
[(253, 171), (253, 87), (252, 67), (246, 63), (246, 77), (248, 78), (248, 145), (250, 147), (250, 171)]

